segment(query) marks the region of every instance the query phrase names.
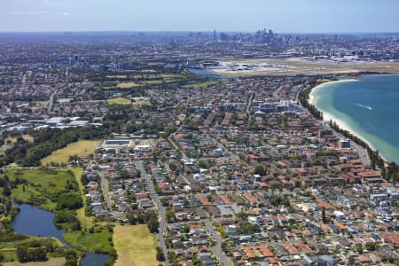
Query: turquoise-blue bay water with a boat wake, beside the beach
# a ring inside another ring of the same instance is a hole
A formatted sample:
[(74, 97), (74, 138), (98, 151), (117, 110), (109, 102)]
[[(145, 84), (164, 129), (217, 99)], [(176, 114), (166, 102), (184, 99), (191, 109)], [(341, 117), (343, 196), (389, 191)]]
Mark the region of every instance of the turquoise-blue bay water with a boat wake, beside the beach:
[(312, 96), (332, 120), (348, 125), (384, 159), (399, 163), (399, 74), (324, 84)]

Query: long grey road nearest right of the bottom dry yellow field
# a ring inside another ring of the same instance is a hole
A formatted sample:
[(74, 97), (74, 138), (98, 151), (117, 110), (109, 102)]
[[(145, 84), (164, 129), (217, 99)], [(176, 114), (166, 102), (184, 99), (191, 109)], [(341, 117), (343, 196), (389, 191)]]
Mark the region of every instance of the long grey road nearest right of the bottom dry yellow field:
[[(157, 236), (160, 248), (162, 249), (163, 254), (165, 254), (165, 258), (166, 258), (167, 254), (168, 254), (168, 249), (165, 245), (165, 239), (163, 239), (163, 233), (167, 226), (166, 208), (160, 203), (160, 196), (157, 194), (157, 192), (155, 192), (155, 186), (153, 185), (153, 178), (151, 178), (151, 176), (147, 174), (147, 171), (145, 171), (145, 168), (144, 168), (141, 160), (136, 160), (136, 165), (137, 165), (137, 168), (141, 172), (141, 176), (143, 178), (145, 178), (145, 182), (147, 184), (148, 191), (150, 192), (151, 199), (153, 199), (153, 203), (154, 203), (155, 207), (158, 209), (158, 213), (160, 215), (160, 217), (159, 217), (160, 231), (156, 234), (156, 236)], [(165, 261), (164, 264), (168, 265), (168, 261)]]

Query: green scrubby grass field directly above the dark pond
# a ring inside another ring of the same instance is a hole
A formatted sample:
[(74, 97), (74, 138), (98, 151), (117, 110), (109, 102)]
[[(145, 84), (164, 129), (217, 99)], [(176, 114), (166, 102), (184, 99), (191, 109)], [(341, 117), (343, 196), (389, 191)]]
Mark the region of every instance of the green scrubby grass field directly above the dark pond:
[(47, 210), (54, 210), (57, 203), (50, 200), (51, 195), (65, 190), (66, 183), (74, 181), (74, 176), (66, 170), (47, 168), (8, 170), (7, 176), (11, 180), (18, 177), (27, 180), (27, 184), (20, 184), (12, 189), (12, 198), (35, 205)]

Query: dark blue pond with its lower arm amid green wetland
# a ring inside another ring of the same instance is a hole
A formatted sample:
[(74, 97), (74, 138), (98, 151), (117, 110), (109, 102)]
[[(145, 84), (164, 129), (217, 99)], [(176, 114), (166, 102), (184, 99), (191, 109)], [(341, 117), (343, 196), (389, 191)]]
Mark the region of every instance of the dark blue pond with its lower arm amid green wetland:
[[(17, 204), (15, 204), (17, 205)], [(64, 230), (59, 230), (53, 223), (54, 214), (28, 204), (19, 204), (20, 213), (12, 220), (12, 229), (27, 236), (57, 238), (66, 247), (73, 248), (63, 239)], [(82, 266), (101, 266), (108, 261), (107, 254), (86, 253)]]

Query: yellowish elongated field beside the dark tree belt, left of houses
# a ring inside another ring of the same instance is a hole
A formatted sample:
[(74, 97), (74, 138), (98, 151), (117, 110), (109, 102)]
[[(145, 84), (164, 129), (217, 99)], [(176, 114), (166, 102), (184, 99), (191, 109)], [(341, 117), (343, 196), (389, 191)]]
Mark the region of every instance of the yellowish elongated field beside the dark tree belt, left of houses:
[(53, 153), (51, 153), (46, 158), (43, 158), (42, 165), (46, 165), (52, 162), (58, 163), (67, 163), (69, 156), (77, 155), (77, 156), (87, 156), (91, 153), (94, 153), (96, 147), (100, 144), (99, 141), (96, 140), (80, 140), (78, 142), (71, 143), (66, 145), (65, 148), (59, 149)]

